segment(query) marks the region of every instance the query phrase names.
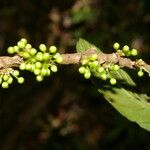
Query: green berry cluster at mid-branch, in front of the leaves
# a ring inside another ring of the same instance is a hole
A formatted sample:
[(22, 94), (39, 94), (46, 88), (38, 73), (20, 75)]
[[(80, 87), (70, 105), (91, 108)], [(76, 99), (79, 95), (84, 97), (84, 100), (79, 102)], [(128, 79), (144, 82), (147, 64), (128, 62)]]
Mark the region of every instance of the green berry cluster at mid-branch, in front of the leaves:
[(119, 69), (120, 67), (117, 64), (100, 65), (98, 55), (93, 54), (91, 57), (82, 58), (79, 72), (83, 74), (86, 79), (89, 79), (92, 74), (96, 73), (102, 80), (109, 79), (110, 84), (115, 85), (117, 80), (111, 76), (111, 71), (117, 71)]

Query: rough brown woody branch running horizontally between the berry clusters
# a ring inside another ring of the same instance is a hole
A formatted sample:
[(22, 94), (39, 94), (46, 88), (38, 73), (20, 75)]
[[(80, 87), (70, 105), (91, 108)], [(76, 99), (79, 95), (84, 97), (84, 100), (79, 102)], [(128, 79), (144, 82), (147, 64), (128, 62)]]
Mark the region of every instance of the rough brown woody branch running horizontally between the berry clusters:
[[(97, 53), (94, 49), (89, 49), (86, 52), (81, 53), (71, 53), (71, 54), (62, 54), (63, 62), (62, 65), (69, 65), (69, 64), (79, 64), (82, 60), (82, 57), (90, 57), (92, 54)], [(133, 61), (129, 58), (121, 57), (117, 53), (105, 54), (102, 52), (98, 53), (98, 61), (100, 64), (104, 63), (113, 63), (119, 64), (121, 67), (128, 67), (128, 68), (137, 68), (143, 67), (147, 71), (150, 72), (150, 65), (145, 63), (142, 60)], [(0, 57), (0, 70), (5, 68), (17, 67), (23, 62), (23, 58), (19, 55), (15, 55), (13, 57), (9, 56), (1, 56)]]

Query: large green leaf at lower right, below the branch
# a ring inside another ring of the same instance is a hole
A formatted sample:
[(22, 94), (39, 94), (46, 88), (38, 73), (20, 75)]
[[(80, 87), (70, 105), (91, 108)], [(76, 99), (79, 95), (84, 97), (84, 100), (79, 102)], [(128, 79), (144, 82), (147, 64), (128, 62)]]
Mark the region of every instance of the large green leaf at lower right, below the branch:
[(98, 89), (105, 99), (123, 116), (150, 131), (150, 97), (125, 88)]

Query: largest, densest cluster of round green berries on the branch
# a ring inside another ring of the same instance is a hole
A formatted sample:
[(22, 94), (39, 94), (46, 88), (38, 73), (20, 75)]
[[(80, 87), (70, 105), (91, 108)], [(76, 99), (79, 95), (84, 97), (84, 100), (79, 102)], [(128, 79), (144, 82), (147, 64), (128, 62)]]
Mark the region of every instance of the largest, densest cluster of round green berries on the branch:
[(28, 70), (36, 75), (36, 80), (41, 82), (45, 76), (51, 72), (57, 72), (57, 63), (63, 60), (56, 46), (46, 47), (45, 44), (39, 45), (39, 51), (33, 48), (26, 39), (21, 39), (16, 46), (9, 47), (8, 53), (17, 53), (24, 62), (20, 64), (20, 70)]

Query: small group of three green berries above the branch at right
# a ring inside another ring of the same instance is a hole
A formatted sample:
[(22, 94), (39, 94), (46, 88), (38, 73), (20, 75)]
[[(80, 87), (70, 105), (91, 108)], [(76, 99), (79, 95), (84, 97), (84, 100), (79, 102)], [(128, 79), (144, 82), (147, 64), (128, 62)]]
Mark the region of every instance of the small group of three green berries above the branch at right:
[(133, 49), (130, 49), (128, 45), (124, 45), (122, 47), (122, 49), (120, 49), (120, 44), (119, 43), (114, 43), (113, 44), (113, 48), (119, 52), (121, 54), (121, 56), (137, 56), (138, 55), (138, 51), (137, 49), (133, 48)]

